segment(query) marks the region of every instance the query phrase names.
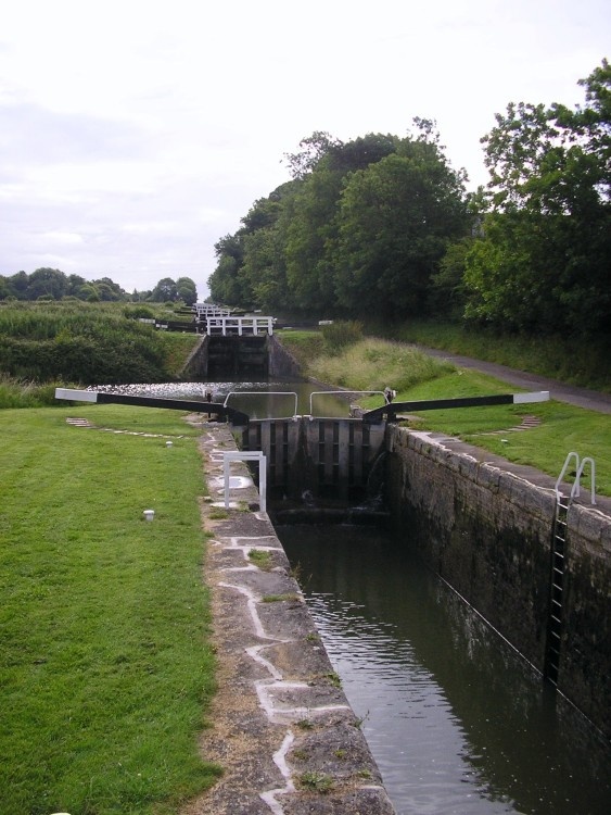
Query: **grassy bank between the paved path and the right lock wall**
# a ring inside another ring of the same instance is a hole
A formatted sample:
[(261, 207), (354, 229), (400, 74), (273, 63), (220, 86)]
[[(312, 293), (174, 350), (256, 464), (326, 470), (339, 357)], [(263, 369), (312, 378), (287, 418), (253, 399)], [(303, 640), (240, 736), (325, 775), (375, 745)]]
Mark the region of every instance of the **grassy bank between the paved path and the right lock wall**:
[[(515, 388), (474, 371), (434, 360), (398, 342), (366, 339), (329, 355), (318, 333), (284, 333), (281, 341), (321, 381), (355, 390), (397, 389), (397, 400), (442, 399), (513, 392)], [(367, 405), (367, 400), (361, 401)], [(370, 400), (373, 406), (379, 404)], [(524, 416), (540, 424), (513, 428)], [(569, 451), (596, 462), (599, 494), (611, 496), (611, 417), (560, 402), (425, 411), (409, 421), (415, 429), (438, 430), (489, 450), (517, 464), (526, 464), (556, 478)], [(589, 476), (589, 471), (586, 472)], [(587, 482), (587, 481), (585, 481)]]

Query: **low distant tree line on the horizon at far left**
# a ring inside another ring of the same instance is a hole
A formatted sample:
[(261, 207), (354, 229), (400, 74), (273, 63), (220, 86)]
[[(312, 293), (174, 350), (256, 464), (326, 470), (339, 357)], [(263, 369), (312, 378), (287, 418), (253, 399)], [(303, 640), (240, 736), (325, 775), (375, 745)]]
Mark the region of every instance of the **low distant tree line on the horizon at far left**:
[(80, 275), (65, 275), (59, 268), (37, 268), (30, 275), (17, 272), (11, 276), (0, 275), (0, 300), (65, 300), (86, 302), (183, 302), (193, 305), (198, 289), (190, 277), (173, 280), (164, 277), (151, 291), (128, 294), (110, 277), (86, 280)]

